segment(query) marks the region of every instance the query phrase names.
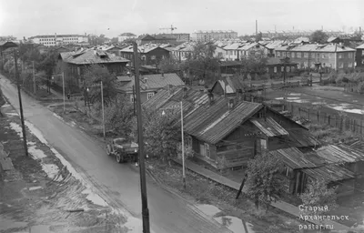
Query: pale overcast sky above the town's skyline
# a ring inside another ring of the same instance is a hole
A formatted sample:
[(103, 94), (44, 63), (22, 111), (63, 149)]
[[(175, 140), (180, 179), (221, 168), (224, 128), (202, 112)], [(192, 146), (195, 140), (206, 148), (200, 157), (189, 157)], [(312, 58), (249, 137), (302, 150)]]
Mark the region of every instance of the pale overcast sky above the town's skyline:
[[(342, 30), (364, 26), (363, 0), (0, 0), (0, 35)], [(364, 27), (363, 27), (364, 29)]]

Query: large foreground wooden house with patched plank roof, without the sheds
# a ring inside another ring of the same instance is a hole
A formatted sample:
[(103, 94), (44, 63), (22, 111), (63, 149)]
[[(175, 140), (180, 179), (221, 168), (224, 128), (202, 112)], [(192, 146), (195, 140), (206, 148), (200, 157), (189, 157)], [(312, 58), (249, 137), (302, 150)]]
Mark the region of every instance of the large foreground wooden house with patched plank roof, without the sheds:
[(319, 145), (295, 121), (268, 106), (238, 98), (177, 88), (157, 93), (151, 99), (154, 104), (147, 101), (145, 105), (158, 109), (177, 105), (176, 99), (183, 102), (184, 130), (196, 157), (218, 169), (245, 166), (264, 150)]

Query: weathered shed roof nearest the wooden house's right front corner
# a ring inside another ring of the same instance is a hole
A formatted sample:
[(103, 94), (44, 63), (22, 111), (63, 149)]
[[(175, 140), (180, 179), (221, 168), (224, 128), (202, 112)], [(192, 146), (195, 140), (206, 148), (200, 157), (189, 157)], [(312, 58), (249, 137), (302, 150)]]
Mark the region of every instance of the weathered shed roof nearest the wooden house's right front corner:
[(269, 154), (278, 156), (288, 167), (292, 169), (319, 167), (324, 164), (315, 154), (303, 154), (296, 147), (269, 151)]

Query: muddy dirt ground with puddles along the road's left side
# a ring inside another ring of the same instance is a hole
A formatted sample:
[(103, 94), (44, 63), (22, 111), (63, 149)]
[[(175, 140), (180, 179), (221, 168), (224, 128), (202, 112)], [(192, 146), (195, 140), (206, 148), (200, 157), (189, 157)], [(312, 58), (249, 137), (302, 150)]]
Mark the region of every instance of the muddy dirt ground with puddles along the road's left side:
[(0, 232), (126, 232), (126, 219), (97, 198), (71, 174), (27, 128), (29, 157), (20, 119), (11, 106), (1, 107), (0, 143), (14, 169), (1, 173)]

